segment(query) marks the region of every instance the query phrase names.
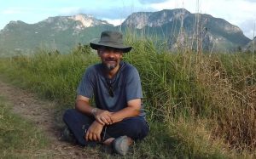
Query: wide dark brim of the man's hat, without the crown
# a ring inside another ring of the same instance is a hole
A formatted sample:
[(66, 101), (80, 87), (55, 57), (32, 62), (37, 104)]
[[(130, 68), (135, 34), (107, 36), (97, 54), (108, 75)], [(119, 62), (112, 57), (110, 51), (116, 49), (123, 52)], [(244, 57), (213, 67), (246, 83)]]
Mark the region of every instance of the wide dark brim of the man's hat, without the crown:
[(110, 47), (110, 48), (118, 48), (120, 50), (122, 50), (123, 53), (128, 53), (129, 51), (131, 51), (131, 48), (132, 47), (128, 47), (128, 46), (125, 46), (125, 45), (117, 45), (115, 43), (98, 43), (98, 42), (91, 42), (90, 43), (90, 47), (93, 48), (93, 49), (98, 49), (100, 47)]

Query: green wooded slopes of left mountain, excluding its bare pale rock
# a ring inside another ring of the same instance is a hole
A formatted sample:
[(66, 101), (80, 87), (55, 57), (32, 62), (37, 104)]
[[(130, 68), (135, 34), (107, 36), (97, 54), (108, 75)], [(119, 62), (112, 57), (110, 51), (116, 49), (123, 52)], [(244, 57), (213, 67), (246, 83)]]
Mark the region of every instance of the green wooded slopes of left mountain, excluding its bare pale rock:
[[(68, 19), (61, 26), (58, 24), (61, 24), (61, 20), (52, 23), (41, 21), (32, 25), (22, 21), (9, 24), (8, 29), (0, 36), (0, 56), (33, 54), (37, 48), (58, 49), (61, 54), (67, 54), (74, 45), (88, 43), (102, 31), (114, 29), (111, 25), (102, 25), (77, 31), (73, 29), (76, 22)], [(67, 29), (60, 31), (58, 28)], [(7, 52), (8, 54), (5, 54)]]

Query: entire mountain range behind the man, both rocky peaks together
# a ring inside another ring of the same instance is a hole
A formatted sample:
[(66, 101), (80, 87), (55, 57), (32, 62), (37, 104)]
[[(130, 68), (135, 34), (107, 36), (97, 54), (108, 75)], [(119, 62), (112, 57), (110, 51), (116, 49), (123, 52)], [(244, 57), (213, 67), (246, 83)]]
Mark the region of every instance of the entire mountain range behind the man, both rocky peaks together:
[(133, 30), (138, 36), (156, 37), (170, 49), (189, 48), (227, 52), (244, 48), (251, 40), (238, 26), (212, 17), (191, 14), (186, 9), (164, 9), (158, 12), (137, 12), (120, 26), (92, 15), (55, 16), (36, 24), (10, 21), (0, 31), (0, 55), (32, 53), (34, 48), (58, 49), (68, 53), (79, 43), (89, 43), (104, 30)]

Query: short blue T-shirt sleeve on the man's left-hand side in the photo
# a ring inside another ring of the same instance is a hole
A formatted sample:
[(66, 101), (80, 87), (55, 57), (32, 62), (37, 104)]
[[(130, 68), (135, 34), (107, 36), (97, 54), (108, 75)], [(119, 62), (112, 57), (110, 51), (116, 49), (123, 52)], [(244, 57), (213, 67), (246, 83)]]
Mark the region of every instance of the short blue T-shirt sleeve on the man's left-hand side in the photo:
[(79, 88), (77, 89), (77, 94), (82, 95), (87, 98), (93, 96), (93, 90), (95, 88), (95, 73), (92, 66), (90, 66), (84, 73), (81, 82), (79, 83)]

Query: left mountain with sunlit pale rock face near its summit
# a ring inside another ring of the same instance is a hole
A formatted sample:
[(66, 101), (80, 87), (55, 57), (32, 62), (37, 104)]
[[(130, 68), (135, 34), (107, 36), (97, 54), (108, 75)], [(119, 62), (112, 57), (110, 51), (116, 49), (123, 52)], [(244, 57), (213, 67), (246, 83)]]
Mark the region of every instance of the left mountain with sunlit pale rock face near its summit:
[(10, 21), (0, 31), (0, 51), (15, 54), (46, 47), (67, 53), (78, 43), (89, 42), (107, 29), (113, 29), (113, 25), (86, 14), (49, 17), (36, 24)]

